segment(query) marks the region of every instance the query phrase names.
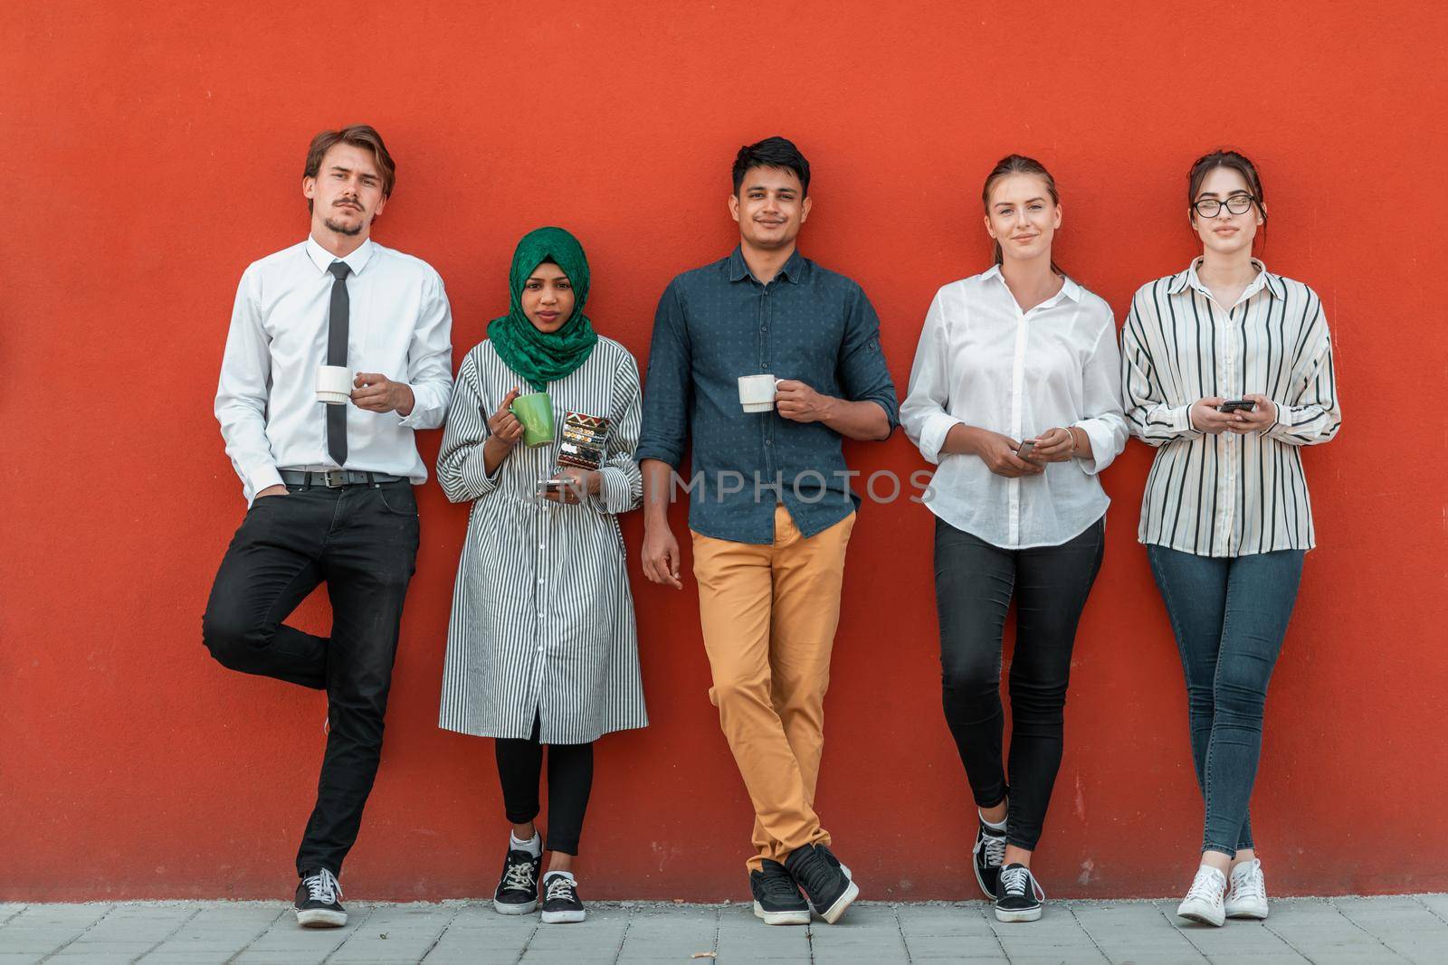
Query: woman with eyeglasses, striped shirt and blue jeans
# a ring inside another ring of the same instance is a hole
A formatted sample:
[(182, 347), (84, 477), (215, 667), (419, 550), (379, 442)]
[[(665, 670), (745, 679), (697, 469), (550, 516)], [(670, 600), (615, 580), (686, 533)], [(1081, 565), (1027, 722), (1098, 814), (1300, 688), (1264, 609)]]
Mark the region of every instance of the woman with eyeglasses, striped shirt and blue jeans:
[(1187, 175), (1202, 255), (1142, 285), (1121, 336), (1134, 435), (1157, 447), (1138, 538), (1186, 674), (1205, 799), (1200, 867), (1177, 914), (1267, 917), (1248, 800), (1267, 681), (1315, 545), (1302, 447), (1341, 415), (1322, 301), (1253, 258), (1266, 230), (1251, 161), (1215, 150)]

